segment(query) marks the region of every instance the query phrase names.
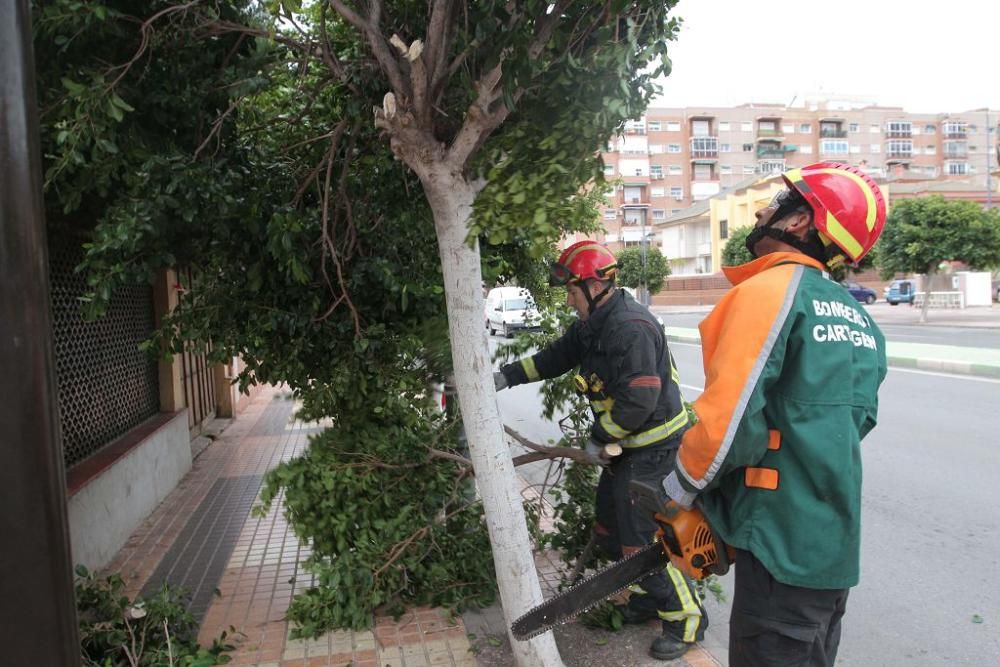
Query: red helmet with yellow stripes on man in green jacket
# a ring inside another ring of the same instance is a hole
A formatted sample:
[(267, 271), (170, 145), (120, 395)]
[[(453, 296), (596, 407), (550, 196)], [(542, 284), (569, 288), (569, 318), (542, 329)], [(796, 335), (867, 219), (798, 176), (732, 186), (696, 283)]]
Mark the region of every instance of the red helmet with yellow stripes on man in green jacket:
[(782, 178), (809, 202), (820, 233), (858, 262), (885, 227), (885, 198), (871, 176), (839, 162), (789, 169)]

